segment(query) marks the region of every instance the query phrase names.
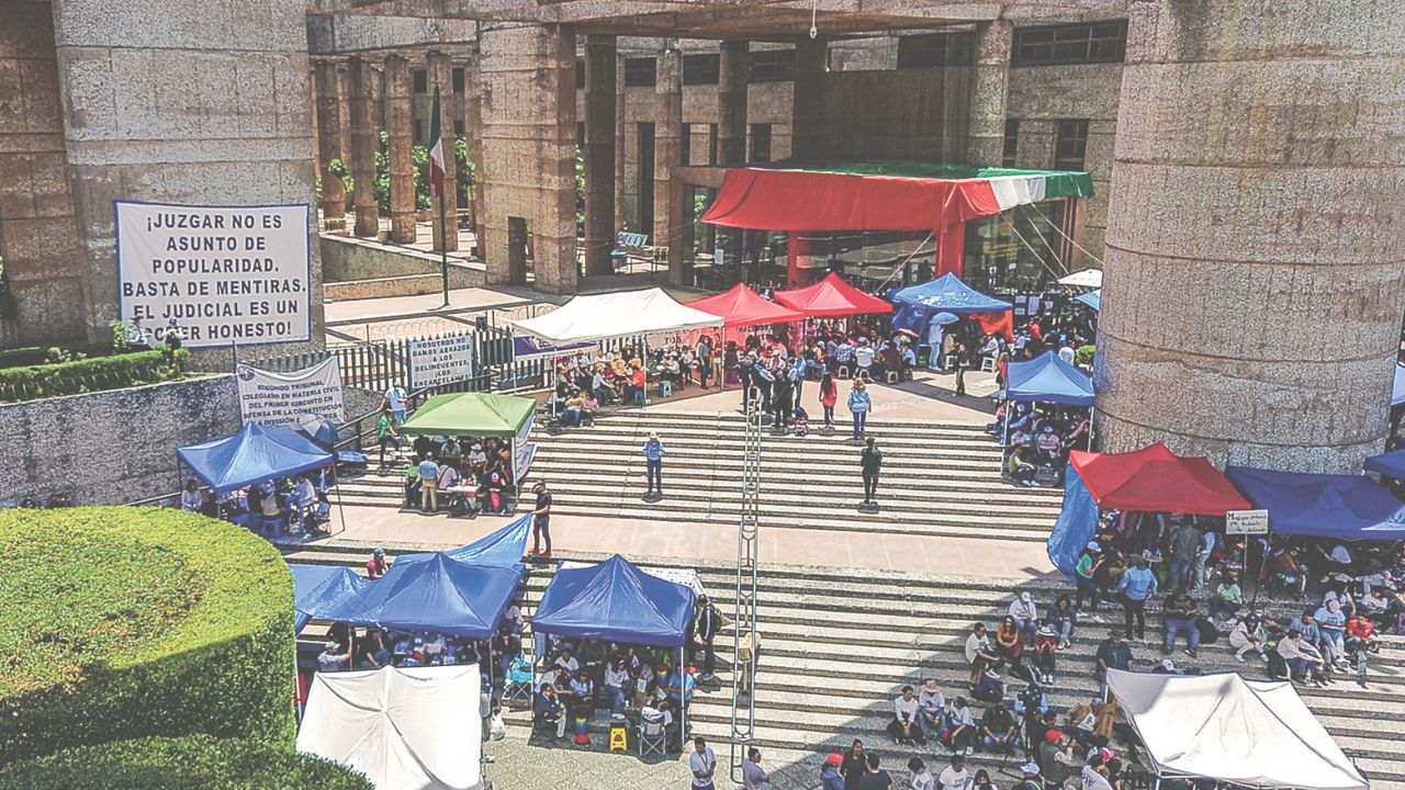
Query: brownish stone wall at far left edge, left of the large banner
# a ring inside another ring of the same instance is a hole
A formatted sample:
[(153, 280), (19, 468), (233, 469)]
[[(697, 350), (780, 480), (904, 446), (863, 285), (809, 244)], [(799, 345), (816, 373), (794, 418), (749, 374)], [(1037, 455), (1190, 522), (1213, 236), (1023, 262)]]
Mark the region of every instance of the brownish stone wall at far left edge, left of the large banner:
[(0, 344), (87, 335), (66, 164), (52, 7), (0, 0), (0, 254), (18, 308)]

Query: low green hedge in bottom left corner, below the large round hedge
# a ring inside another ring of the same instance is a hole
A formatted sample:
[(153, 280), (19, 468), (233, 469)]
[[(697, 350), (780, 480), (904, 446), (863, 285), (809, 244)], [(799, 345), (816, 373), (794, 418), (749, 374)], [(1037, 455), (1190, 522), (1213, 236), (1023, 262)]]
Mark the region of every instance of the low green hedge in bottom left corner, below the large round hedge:
[(190, 735), (66, 749), (0, 769), (0, 790), (374, 790), (334, 762)]

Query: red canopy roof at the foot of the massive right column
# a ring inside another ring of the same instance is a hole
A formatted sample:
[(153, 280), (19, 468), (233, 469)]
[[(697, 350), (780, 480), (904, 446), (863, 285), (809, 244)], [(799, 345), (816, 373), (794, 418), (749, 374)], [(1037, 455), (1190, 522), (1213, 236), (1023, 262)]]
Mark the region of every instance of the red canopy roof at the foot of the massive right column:
[(1131, 453), (1073, 450), (1068, 460), (1104, 510), (1224, 516), (1250, 507), (1208, 458), (1182, 458), (1161, 441)]

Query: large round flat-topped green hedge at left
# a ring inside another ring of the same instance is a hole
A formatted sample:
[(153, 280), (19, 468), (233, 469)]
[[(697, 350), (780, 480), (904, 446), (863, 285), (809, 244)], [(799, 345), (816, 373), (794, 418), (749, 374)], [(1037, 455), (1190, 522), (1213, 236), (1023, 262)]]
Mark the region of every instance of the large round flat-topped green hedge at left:
[(233, 524), (159, 507), (0, 510), (0, 765), (205, 732), (289, 746), (292, 576)]

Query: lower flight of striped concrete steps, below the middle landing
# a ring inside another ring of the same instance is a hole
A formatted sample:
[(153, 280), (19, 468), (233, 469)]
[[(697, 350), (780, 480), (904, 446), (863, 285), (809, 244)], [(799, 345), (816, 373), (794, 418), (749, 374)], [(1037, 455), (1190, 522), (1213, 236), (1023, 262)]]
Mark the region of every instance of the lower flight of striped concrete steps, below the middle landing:
[[(308, 547), (289, 551), (288, 559), (360, 564), (368, 551), (365, 545)], [(725, 565), (697, 569), (722, 613), (731, 617), (735, 571)], [(551, 574), (548, 565), (532, 568), (525, 588), (528, 616)], [(863, 738), (884, 755), (887, 765), (906, 762), (912, 749), (895, 748), (884, 734), (891, 699), (903, 683), (919, 685), (927, 676), (937, 678), (948, 697), (964, 693), (968, 669), (962, 645), (968, 628), (976, 620), (993, 624), (1013, 589), (999, 579), (764, 566), (759, 599), (763, 659), (756, 693), (757, 745), (770, 753), (804, 756), (842, 751), (853, 738)], [(1065, 592), (1055, 582), (1020, 589), (1033, 590), (1041, 604)], [(1294, 609), (1290, 602), (1270, 606), (1270, 611), (1283, 614)], [(1109, 619), (1113, 614), (1107, 613)], [(1106, 628), (1085, 623), (1073, 645), (1059, 652), (1051, 704), (1061, 713), (1096, 694), (1092, 654)], [(731, 635), (728, 630), (718, 640), (718, 683), (700, 686), (691, 713), (694, 731), (715, 742), (726, 742), (731, 732)], [(1148, 635), (1159, 640), (1159, 626), (1148, 628)], [(319, 644), (320, 637), (316, 623), (302, 635), (309, 647)], [(1300, 693), (1373, 786), (1397, 790), (1405, 789), (1405, 640), (1387, 637), (1384, 642), (1381, 654), (1373, 656), (1370, 690), (1339, 680), (1326, 689), (1300, 689)], [(1142, 666), (1161, 659), (1156, 641), (1132, 647)], [(1262, 663), (1236, 663), (1222, 641), (1203, 647), (1198, 659), (1180, 652), (1175, 658), (1182, 666), (1263, 678)], [(1010, 700), (1023, 683), (1007, 680)], [(976, 711), (982, 708), (976, 706)], [(530, 711), (518, 710), (510, 721), (525, 727), (528, 718)], [(917, 753), (929, 765), (933, 758), (939, 765), (946, 759), (946, 751), (936, 744)], [(988, 766), (998, 760), (993, 755), (974, 759)], [(813, 765), (808, 759), (805, 770)]]

